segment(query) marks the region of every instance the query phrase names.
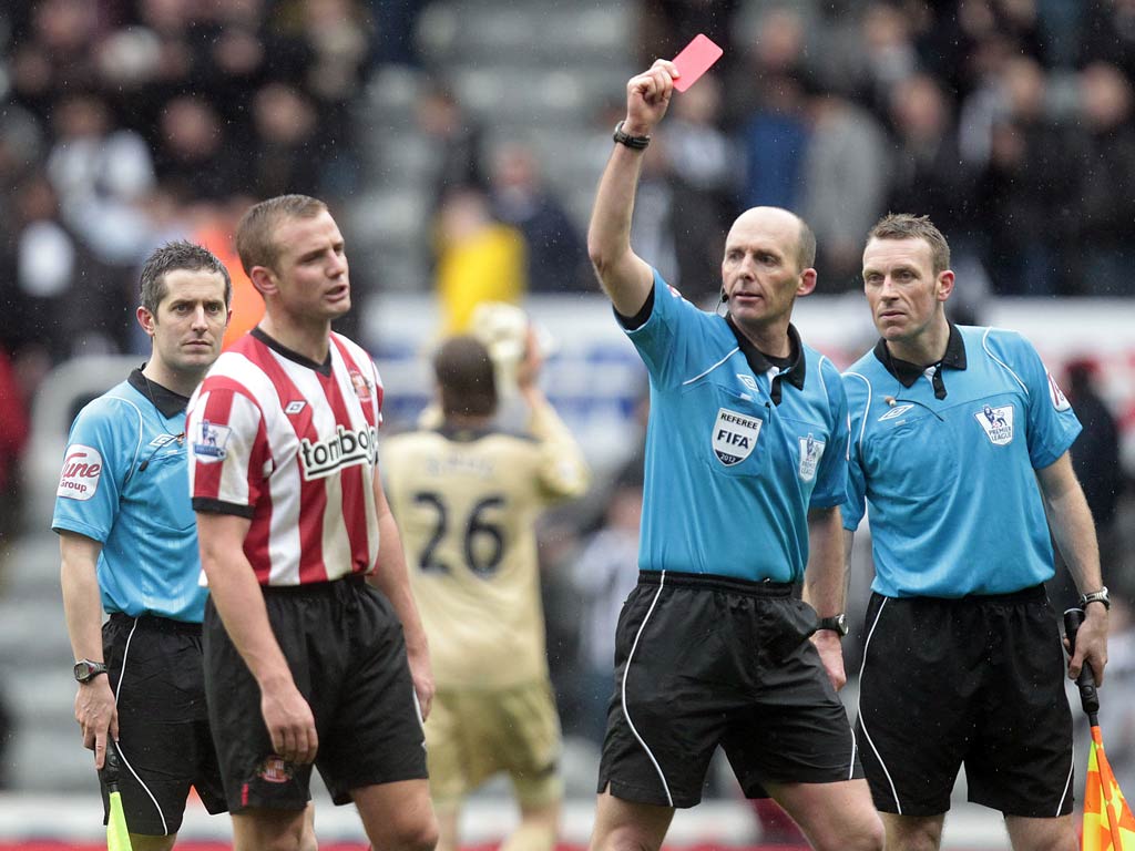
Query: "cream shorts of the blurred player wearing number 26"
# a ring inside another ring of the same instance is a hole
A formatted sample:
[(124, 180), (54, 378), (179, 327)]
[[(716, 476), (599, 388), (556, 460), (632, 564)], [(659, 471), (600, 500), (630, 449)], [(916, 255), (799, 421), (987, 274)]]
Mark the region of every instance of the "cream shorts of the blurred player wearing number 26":
[(426, 744), (430, 795), (438, 807), (456, 806), (502, 772), (523, 807), (563, 797), (560, 716), (546, 680), (507, 689), (438, 689)]

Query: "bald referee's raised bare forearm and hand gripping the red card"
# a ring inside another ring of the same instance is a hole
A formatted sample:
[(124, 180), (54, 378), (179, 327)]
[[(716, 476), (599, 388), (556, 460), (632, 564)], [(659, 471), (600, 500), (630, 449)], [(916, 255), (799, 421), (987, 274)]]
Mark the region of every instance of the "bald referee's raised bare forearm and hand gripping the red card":
[[(674, 92), (674, 64), (658, 59), (627, 83), (623, 132), (649, 136), (666, 115)], [(587, 233), (587, 250), (612, 304), (624, 317), (638, 313), (654, 280), (649, 264), (631, 250), (631, 216), (644, 151), (616, 144), (599, 180)]]

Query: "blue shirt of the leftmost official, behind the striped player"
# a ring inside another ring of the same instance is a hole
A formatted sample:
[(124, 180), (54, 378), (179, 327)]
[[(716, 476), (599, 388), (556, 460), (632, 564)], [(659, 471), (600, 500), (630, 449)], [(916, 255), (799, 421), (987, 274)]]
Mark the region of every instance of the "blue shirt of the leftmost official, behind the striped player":
[(187, 402), (135, 370), (72, 426), (51, 528), (102, 544), (99, 588), (109, 613), (193, 623), (204, 615)]

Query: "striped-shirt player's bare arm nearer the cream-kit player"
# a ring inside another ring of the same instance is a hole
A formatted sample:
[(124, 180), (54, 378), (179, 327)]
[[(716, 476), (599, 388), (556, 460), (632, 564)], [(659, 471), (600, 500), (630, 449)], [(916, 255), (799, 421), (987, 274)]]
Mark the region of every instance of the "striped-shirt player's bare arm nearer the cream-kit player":
[(402, 536), (394, 522), (390, 505), (386, 502), (382, 482), (375, 477), (375, 503), (378, 512), (378, 564), (367, 580), (394, 606), (402, 631), (406, 638), (406, 662), (414, 680), (414, 692), (421, 707), (422, 719), (429, 717), (434, 702), (434, 671), (429, 662), (429, 643), (426, 629), (418, 614), (418, 604), (410, 590), (410, 574), (406, 572), (406, 556), (402, 549)]

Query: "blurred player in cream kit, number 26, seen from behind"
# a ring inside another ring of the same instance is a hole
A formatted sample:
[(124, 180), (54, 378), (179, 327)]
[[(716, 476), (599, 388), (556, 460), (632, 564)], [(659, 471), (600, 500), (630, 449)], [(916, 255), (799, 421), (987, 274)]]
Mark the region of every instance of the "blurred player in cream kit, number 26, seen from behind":
[(453, 337), (434, 359), (442, 424), (384, 444), (390, 506), (430, 640), (437, 683), (426, 723), (438, 848), (456, 851), (464, 798), (506, 773), (520, 826), (502, 849), (550, 851), (563, 783), (560, 722), (545, 651), (536, 521), (581, 496), (579, 446), (538, 385), (533, 335), (516, 370), (527, 433), (494, 427), (488, 348)]

